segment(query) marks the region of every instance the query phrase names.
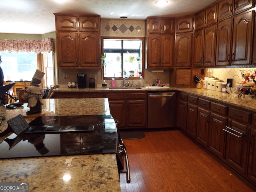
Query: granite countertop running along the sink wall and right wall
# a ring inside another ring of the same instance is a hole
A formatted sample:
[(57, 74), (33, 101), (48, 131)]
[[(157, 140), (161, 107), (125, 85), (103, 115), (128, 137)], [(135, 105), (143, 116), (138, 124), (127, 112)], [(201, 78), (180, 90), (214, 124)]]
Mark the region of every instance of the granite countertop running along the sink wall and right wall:
[(206, 99), (213, 100), (218, 103), (232, 105), (236, 107), (242, 107), (245, 110), (251, 110), (255, 111), (256, 109), (256, 96), (254, 95), (254, 98), (252, 98), (250, 95), (246, 95), (245, 98), (238, 97), (237, 94), (231, 95), (228, 93), (222, 93), (219, 91), (213, 91), (213, 90), (207, 90), (207, 89), (197, 89), (197, 88), (174, 88), (170, 87), (170, 89), (149, 89), (149, 88), (141, 88), (141, 89), (109, 89), (109, 88), (84, 88), (84, 89), (78, 89), (78, 88), (68, 88), (68, 87), (60, 87), (55, 89), (56, 92), (103, 92), (103, 91), (111, 91), (111, 92), (148, 92), (148, 91), (166, 91), (166, 90), (177, 90), (181, 92), (185, 92), (188, 94), (194, 94), (200, 97), (204, 97)]

